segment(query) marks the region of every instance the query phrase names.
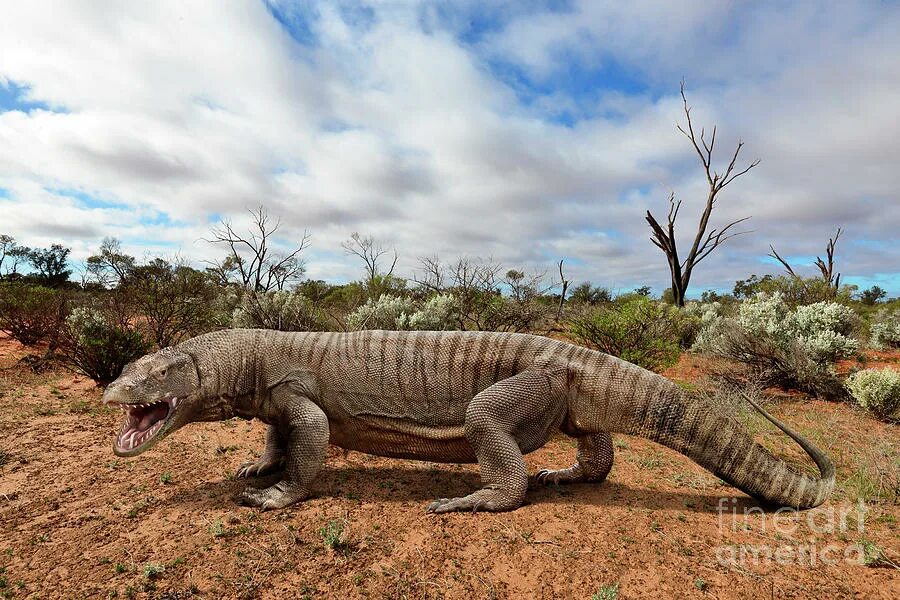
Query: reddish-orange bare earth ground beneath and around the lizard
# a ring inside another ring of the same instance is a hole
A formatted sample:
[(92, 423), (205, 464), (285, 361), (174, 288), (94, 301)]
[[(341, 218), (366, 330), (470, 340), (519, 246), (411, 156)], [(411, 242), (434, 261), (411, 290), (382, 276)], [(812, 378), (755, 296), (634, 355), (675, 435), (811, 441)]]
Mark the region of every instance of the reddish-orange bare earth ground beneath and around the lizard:
[[(534, 489), (511, 513), (426, 515), (431, 499), (477, 487), (476, 468), (339, 449), (312, 499), (260, 513), (235, 504), (246, 482), (231, 476), (262, 447), (259, 423), (191, 425), (118, 459), (119, 415), (99, 391), (30, 373), (16, 366), (23, 354), (0, 338), (0, 598), (614, 598), (604, 586), (616, 585), (618, 598), (900, 597), (900, 570), (862, 566), (856, 552), (867, 540), (900, 562), (898, 427), (846, 405), (772, 407), (839, 467), (835, 497), (797, 515), (745, 516), (753, 503), (740, 492), (626, 436), (607, 482)], [(685, 357), (669, 375), (701, 373)], [(534, 472), (573, 457), (559, 437), (527, 460)], [(732, 496), (738, 516), (720, 517)], [(864, 519), (850, 510), (858, 496)], [(844, 528), (832, 518), (842, 510)], [(334, 548), (329, 522), (342, 531)]]

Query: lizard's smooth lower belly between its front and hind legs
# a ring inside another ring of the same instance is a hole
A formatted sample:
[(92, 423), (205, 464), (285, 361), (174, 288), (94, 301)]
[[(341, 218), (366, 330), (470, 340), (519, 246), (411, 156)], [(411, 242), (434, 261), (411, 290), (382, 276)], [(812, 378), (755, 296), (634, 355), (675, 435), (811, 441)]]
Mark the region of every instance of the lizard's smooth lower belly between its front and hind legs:
[(463, 425), (427, 426), (409, 419), (347, 416), (330, 422), (330, 442), (377, 456), (433, 462), (477, 462)]

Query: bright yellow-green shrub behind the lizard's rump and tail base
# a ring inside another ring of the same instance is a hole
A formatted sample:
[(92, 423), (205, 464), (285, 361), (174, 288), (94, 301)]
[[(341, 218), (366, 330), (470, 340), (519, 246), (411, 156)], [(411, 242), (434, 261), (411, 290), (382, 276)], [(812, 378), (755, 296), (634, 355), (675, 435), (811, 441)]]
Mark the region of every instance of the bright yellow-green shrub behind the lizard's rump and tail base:
[(573, 318), (569, 329), (587, 346), (662, 370), (678, 361), (683, 323), (692, 318), (674, 306), (631, 295)]

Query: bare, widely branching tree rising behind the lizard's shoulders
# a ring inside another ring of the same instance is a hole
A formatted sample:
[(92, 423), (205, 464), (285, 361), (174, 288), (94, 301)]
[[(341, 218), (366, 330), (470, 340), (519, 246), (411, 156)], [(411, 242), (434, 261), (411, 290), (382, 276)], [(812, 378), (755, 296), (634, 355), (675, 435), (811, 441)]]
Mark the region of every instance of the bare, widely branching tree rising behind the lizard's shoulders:
[(274, 235), (281, 227), (281, 219), (270, 222), (263, 206), (249, 210), (253, 224), (249, 232), (239, 234), (230, 221), (222, 220), (212, 229), (212, 244), (228, 246), (228, 255), (219, 262), (208, 262), (208, 269), (222, 283), (236, 282), (254, 292), (281, 290), (300, 279), (306, 265), (300, 254), (309, 246), (309, 233), (303, 232), (300, 243), (289, 252), (272, 249)]

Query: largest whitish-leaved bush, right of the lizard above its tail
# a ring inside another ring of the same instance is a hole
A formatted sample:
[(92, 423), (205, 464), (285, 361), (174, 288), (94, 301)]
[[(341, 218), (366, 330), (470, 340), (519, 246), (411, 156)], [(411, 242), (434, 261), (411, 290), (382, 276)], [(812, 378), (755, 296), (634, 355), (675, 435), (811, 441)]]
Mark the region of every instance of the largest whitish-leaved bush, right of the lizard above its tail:
[(728, 316), (710, 307), (695, 349), (735, 363), (735, 377), (752, 377), (816, 396), (842, 398), (833, 363), (859, 349), (859, 319), (846, 306), (818, 302), (792, 309), (780, 293), (758, 295)]

